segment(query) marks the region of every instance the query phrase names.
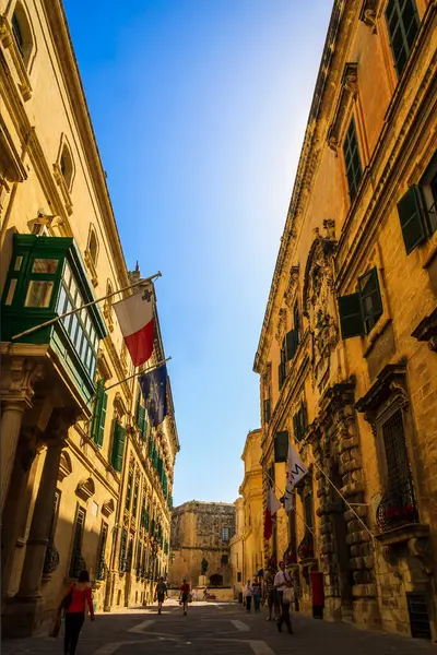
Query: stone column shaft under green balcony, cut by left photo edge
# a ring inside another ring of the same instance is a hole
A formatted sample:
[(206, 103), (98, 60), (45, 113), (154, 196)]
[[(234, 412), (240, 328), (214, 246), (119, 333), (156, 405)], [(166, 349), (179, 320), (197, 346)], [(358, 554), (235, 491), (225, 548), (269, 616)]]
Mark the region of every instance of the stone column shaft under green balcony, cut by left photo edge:
[(16, 446), (26, 403), (12, 401), (4, 403), (1, 417), (1, 478), (0, 478), (0, 512), (3, 514), (4, 502), (8, 496), (12, 469), (15, 462)]

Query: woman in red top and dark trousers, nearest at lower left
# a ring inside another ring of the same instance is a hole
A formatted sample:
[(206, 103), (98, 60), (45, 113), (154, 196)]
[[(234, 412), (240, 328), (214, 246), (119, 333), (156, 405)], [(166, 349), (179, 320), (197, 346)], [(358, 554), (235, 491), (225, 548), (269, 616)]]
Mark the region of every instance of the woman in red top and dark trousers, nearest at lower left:
[(93, 594), (90, 586), (87, 571), (81, 571), (78, 582), (71, 584), (63, 596), (59, 607), (58, 616), (62, 609), (66, 614), (66, 635), (63, 640), (63, 652), (66, 655), (74, 655), (79, 634), (85, 620), (85, 609), (88, 606), (90, 618), (94, 621)]

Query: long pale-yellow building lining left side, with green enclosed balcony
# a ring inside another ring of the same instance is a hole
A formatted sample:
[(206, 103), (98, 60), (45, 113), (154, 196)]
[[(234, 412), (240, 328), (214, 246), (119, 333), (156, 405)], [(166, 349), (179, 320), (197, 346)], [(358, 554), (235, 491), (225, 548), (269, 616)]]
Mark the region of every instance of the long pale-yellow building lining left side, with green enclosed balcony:
[(146, 600), (179, 446), (169, 386), (156, 431), (123, 382), (120, 296), (13, 340), (132, 279), (60, 0), (0, 2), (0, 97), (2, 629), (24, 635), (83, 567), (97, 610)]

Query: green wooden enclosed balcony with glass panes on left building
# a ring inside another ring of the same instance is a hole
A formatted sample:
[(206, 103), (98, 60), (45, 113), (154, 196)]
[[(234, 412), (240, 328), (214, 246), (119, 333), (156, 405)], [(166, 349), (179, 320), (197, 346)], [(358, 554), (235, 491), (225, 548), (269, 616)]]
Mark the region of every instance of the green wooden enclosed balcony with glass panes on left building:
[[(66, 384), (71, 386), (73, 383), (86, 404), (95, 393), (98, 343), (107, 334), (97, 305), (32, 334), (17, 340), (12, 337), (94, 299), (72, 238), (14, 235), (1, 301), (1, 340), (17, 344), (17, 347), (23, 344), (47, 346), (47, 356), (55, 368), (68, 377)], [(32, 350), (28, 354), (32, 355)]]

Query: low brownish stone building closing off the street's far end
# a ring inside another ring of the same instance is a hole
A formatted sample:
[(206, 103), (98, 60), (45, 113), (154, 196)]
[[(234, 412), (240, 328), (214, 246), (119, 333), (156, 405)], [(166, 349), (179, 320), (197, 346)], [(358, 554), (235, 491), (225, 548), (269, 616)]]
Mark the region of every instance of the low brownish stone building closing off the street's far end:
[(229, 541), (235, 533), (235, 505), (191, 500), (172, 512), (170, 585), (184, 579), (193, 586), (231, 587)]

